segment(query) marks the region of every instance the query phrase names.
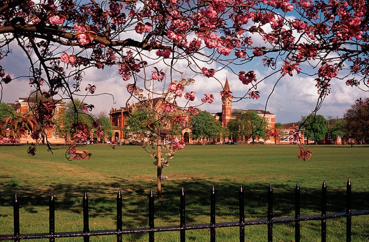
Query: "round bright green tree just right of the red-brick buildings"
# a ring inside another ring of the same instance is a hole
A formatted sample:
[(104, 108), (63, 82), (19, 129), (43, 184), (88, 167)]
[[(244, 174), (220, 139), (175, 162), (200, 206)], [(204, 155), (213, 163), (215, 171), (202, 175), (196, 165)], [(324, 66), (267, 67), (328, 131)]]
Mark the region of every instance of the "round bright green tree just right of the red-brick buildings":
[(302, 117), (303, 135), (311, 140), (314, 140), (315, 144), (319, 140), (324, 139), (328, 131), (328, 121), (322, 115), (311, 114), (308, 117)]

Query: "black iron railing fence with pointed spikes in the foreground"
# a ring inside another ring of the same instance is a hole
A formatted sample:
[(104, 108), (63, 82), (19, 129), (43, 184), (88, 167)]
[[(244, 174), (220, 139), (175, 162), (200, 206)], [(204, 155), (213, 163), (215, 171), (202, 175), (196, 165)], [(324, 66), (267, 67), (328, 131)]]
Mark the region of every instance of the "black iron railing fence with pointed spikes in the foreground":
[(14, 235), (0, 235), (0, 240), (14, 240), (20, 241), (21, 239), (49, 239), (49, 241), (55, 241), (56, 238), (65, 237), (84, 237), (84, 241), (89, 241), (91, 236), (106, 236), (106, 235), (116, 235), (117, 241), (122, 241), (122, 235), (124, 234), (137, 234), (137, 233), (148, 233), (149, 241), (153, 242), (155, 239), (155, 233), (165, 232), (165, 231), (179, 231), (180, 241), (186, 241), (186, 231), (187, 230), (200, 230), (209, 229), (210, 235), (209, 240), (211, 242), (215, 241), (215, 234), (217, 228), (227, 228), (227, 227), (239, 227), (239, 240), (244, 241), (245, 237), (245, 226), (255, 226), (255, 225), (267, 225), (268, 227), (268, 241), (273, 241), (273, 225), (279, 223), (295, 223), (295, 241), (300, 241), (300, 222), (308, 220), (320, 220), (321, 221), (321, 241), (326, 241), (326, 221), (331, 218), (346, 218), (346, 241), (351, 241), (352, 233), (352, 217), (368, 215), (369, 210), (352, 211), (352, 198), (351, 198), (351, 181), (347, 180), (346, 185), (346, 211), (340, 213), (326, 213), (327, 205), (327, 189), (325, 181), (322, 185), (321, 191), (321, 214), (311, 215), (311, 216), (300, 216), (300, 187), (299, 184), (295, 188), (295, 216), (294, 217), (283, 217), (274, 218), (273, 217), (273, 188), (272, 185), (269, 186), (268, 190), (268, 217), (266, 219), (257, 220), (245, 220), (244, 219), (244, 195), (242, 186), (239, 189), (239, 221), (229, 221), (216, 223), (215, 217), (215, 189), (212, 188), (211, 191), (211, 202), (210, 202), (210, 224), (197, 224), (197, 225), (187, 225), (186, 224), (186, 203), (185, 203), (185, 191), (182, 188), (180, 194), (180, 224), (175, 226), (164, 226), (155, 227), (154, 226), (154, 195), (153, 191), (150, 191), (149, 195), (149, 227), (148, 228), (136, 228), (136, 229), (124, 229), (122, 228), (122, 197), (120, 191), (117, 194), (117, 209), (116, 209), (116, 229), (112, 230), (100, 230), (100, 231), (90, 231), (89, 229), (89, 205), (88, 196), (85, 192), (83, 197), (83, 231), (80, 232), (55, 232), (55, 199), (53, 194), (50, 196), (49, 200), (49, 233), (37, 233), (37, 234), (20, 234), (19, 226), (19, 201), (17, 196), (14, 197)]

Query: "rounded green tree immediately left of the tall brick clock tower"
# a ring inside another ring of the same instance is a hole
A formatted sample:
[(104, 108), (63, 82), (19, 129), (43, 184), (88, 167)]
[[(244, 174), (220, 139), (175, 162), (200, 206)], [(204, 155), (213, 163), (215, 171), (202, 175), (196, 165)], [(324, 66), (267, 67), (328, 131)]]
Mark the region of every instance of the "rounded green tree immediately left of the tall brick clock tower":
[[(192, 116), (190, 123), (194, 139), (199, 137), (216, 138), (221, 133), (220, 123), (208, 111), (200, 111), (197, 115)], [(204, 139), (202, 142), (204, 143)]]

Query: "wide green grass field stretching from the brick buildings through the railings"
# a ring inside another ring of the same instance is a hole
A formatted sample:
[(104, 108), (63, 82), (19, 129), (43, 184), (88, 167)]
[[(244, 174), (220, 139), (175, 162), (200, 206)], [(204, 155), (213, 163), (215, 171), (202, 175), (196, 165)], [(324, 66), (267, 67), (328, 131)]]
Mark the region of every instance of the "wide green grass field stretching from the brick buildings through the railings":
[[(116, 195), (123, 197), (125, 228), (148, 226), (148, 195), (156, 188), (153, 159), (140, 146), (86, 147), (90, 160), (68, 161), (65, 150), (0, 146), (0, 234), (13, 233), (12, 200), (20, 201), (20, 233), (48, 232), (48, 201), (56, 197), (56, 232), (82, 231), (81, 200), (88, 192), (90, 230), (115, 229)], [(238, 221), (238, 190), (245, 191), (245, 219), (267, 217), (267, 191), (274, 190), (274, 216), (294, 216), (294, 189), (301, 188), (301, 216), (320, 214), (321, 186), (328, 191), (327, 212), (345, 211), (350, 178), (353, 210), (369, 209), (368, 146), (310, 146), (312, 159), (297, 158), (289, 145), (186, 146), (163, 170), (165, 199), (155, 200), (155, 226), (179, 225), (179, 194), (186, 193), (186, 223), (210, 222), (210, 191), (216, 192), (216, 221)], [(353, 217), (352, 241), (369, 241), (369, 216)], [(294, 241), (293, 224), (274, 225), (275, 241)], [(267, 241), (266, 226), (245, 228), (246, 241)], [(186, 232), (187, 241), (209, 241), (209, 230)], [(237, 241), (238, 228), (217, 229), (217, 241)], [(91, 237), (90, 241), (114, 241)], [(125, 241), (148, 241), (147, 235), (125, 235)], [(156, 233), (155, 241), (178, 241), (179, 232)], [(28, 240), (30, 241), (30, 240)], [(47, 240), (33, 240), (47, 241)], [(83, 238), (57, 239), (83, 241)], [(320, 241), (320, 221), (301, 222), (301, 241)], [(327, 221), (327, 241), (345, 241), (345, 219)]]

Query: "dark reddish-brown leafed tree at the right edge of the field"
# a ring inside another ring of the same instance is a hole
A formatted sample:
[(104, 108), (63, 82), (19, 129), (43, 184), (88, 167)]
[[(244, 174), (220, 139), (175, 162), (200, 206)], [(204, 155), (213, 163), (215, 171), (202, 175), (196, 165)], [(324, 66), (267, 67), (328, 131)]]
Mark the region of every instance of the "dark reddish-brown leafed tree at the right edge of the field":
[(348, 137), (358, 142), (369, 139), (369, 99), (358, 99), (344, 114)]

